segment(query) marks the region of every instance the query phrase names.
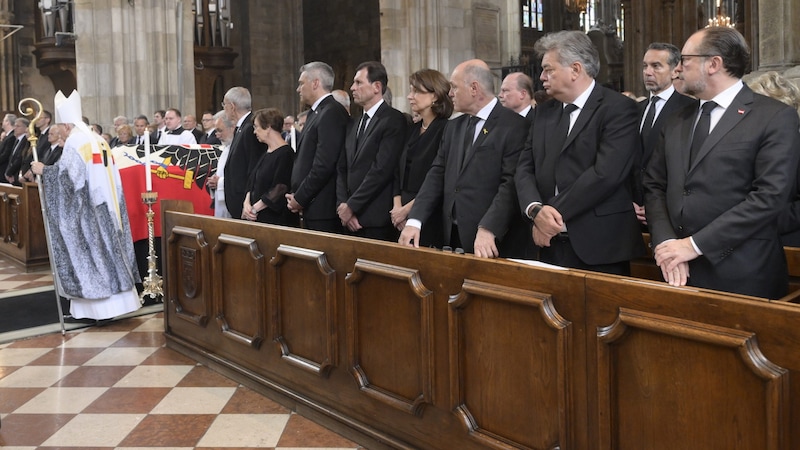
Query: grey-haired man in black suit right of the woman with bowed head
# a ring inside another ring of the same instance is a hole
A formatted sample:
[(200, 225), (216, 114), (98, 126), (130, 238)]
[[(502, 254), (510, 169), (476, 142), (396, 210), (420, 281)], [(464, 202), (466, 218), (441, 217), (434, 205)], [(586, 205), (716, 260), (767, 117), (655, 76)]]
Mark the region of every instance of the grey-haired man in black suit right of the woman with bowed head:
[(301, 227), (336, 233), (342, 230), (336, 213), (336, 170), (350, 116), (331, 95), (333, 79), (333, 69), (324, 62), (300, 68), (297, 93), (311, 112), (297, 138), (286, 206), (300, 215)]

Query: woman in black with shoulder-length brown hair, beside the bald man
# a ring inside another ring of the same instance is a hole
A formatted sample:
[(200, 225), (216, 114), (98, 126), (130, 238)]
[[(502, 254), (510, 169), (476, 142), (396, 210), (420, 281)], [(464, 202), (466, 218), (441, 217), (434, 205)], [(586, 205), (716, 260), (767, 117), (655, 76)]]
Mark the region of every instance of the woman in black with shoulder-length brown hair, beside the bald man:
[[(414, 198), (439, 151), (444, 126), (453, 114), (453, 101), (448, 95), (450, 83), (441, 72), (419, 70), (409, 77), (409, 83), (408, 103), (419, 120), (410, 127), (408, 143), (395, 175), (394, 208), (390, 214), (398, 230), (405, 227)], [(441, 215), (432, 214), (422, 226), (420, 247), (441, 247), (442, 231)]]

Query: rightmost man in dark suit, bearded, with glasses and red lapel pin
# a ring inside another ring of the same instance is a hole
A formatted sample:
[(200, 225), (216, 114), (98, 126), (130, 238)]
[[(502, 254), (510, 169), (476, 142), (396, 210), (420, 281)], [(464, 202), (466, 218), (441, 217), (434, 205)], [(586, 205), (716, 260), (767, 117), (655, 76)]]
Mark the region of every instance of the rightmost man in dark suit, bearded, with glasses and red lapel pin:
[(749, 61), (732, 28), (684, 44), (681, 89), (700, 101), (664, 125), (645, 172), (647, 222), (670, 284), (778, 298), (788, 273), (777, 217), (794, 193), (800, 120), (742, 83)]

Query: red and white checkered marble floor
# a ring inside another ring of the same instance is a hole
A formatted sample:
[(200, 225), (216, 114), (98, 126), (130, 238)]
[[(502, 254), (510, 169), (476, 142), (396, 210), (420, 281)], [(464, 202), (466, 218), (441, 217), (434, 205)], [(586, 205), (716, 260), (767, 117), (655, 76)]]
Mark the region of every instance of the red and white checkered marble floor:
[[(47, 286), (49, 272), (3, 263), (0, 294)], [(0, 344), (0, 448), (363, 448), (167, 349), (163, 332), (156, 312)]]

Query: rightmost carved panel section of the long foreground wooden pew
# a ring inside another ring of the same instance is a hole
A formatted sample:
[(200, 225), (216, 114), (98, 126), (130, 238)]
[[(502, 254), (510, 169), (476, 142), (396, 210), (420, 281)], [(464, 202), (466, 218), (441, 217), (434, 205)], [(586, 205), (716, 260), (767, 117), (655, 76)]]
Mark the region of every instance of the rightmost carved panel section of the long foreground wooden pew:
[(596, 275), (586, 285), (598, 448), (800, 448), (796, 305)]

